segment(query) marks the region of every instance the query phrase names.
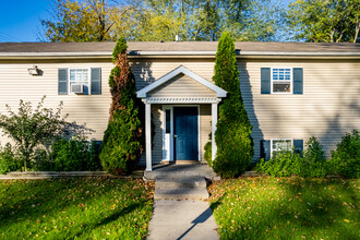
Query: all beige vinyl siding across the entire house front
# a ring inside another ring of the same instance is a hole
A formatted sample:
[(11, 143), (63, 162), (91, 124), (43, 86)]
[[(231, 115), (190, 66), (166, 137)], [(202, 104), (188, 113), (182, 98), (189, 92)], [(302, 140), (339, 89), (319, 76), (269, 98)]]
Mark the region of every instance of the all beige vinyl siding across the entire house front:
[[(0, 63), (0, 111), (5, 113), (5, 104), (13, 110), (19, 100), (31, 100), (37, 105), (43, 95), (47, 95), (46, 107), (56, 108), (63, 100), (63, 113), (69, 121), (85, 123), (96, 132), (91, 135), (101, 140), (107, 127), (111, 96), (108, 76), (110, 62), (76, 62), (74, 60), (39, 61), (35, 64), (44, 72), (41, 76), (31, 76), (27, 69), (34, 63)], [(136, 79), (136, 88), (153, 83), (179, 65), (184, 65), (200, 76), (212, 81), (214, 60), (212, 59), (131, 59), (132, 71)], [(360, 130), (360, 61), (359, 60), (251, 60), (238, 61), (241, 93), (253, 125), (254, 159), (260, 157), (260, 140), (319, 137), (329, 155), (341, 136), (352, 129)], [(261, 95), (261, 68), (303, 68), (303, 94)], [(58, 95), (59, 68), (101, 68), (101, 95)], [(161, 159), (161, 111), (153, 106), (153, 116), (157, 119), (156, 149), (153, 160)], [(201, 153), (211, 131), (211, 106), (201, 105)], [(0, 139), (1, 144), (5, 137)], [(154, 140), (155, 141), (155, 140)], [(154, 143), (155, 144), (155, 143)]]

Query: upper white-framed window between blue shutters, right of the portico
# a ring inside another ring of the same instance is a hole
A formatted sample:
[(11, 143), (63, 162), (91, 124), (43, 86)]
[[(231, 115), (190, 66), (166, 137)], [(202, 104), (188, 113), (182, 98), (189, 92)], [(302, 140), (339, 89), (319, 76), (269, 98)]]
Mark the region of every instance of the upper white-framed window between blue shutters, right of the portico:
[(272, 93), (291, 93), (291, 69), (272, 69)]

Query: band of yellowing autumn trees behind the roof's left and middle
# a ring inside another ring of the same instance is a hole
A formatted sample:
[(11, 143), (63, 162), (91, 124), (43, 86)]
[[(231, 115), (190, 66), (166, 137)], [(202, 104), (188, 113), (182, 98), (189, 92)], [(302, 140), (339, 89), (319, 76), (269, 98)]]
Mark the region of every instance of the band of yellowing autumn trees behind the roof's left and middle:
[(280, 9), (271, 0), (53, 0), (41, 20), (50, 41), (274, 40)]

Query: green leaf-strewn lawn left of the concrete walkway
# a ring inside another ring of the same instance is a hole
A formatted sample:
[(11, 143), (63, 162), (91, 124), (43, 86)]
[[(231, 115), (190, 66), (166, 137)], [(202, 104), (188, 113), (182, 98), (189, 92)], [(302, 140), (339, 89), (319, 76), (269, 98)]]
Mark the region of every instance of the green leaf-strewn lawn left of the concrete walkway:
[(0, 239), (142, 239), (153, 192), (142, 180), (0, 181)]

